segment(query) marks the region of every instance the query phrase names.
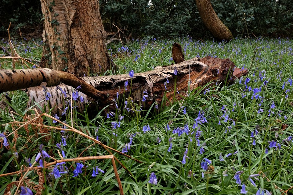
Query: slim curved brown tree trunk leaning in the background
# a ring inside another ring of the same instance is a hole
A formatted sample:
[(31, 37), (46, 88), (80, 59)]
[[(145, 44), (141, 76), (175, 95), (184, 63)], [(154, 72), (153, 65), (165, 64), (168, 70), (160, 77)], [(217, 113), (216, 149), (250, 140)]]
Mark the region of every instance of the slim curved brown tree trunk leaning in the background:
[(204, 26), (218, 41), (230, 41), (233, 35), (215, 13), (210, 0), (195, 0)]

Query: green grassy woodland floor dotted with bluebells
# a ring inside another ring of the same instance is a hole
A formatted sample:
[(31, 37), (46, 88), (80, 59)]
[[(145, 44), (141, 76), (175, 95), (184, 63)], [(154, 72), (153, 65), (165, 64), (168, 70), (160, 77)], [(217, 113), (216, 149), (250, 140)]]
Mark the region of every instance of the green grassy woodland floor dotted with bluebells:
[[(139, 164), (116, 155), (133, 174), (130, 176), (116, 163), (125, 194), (292, 194), (293, 40), (258, 38), (251, 43), (248, 39), (201, 43), (187, 37), (134, 40), (129, 45), (113, 43), (108, 48), (119, 66), (117, 74), (130, 70), (135, 74), (171, 64), (174, 41), (182, 45), (186, 59), (207, 55), (230, 58), (238, 68), (250, 69), (250, 73), (229, 87), (194, 90), (188, 92), (183, 103), (165, 108), (154, 105), (150, 110), (142, 107), (135, 111), (137, 115), (126, 109), (109, 116), (97, 111), (94, 119), (88, 119), (87, 112), (80, 116), (73, 109), (71, 120), (67, 109), (67, 116), (59, 116), (60, 120), (73, 123), (76, 129), (98, 137), (103, 144), (143, 161)], [(41, 41), (13, 44), (21, 57), (40, 60), (42, 48), (36, 46)], [(5, 40), (0, 45), (9, 48)], [(0, 62), (5, 69), (11, 69), (14, 63), (11, 59)], [(20, 60), (15, 66), (28, 68)], [(166, 84), (167, 90), (174, 90)], [(184, 96), (186, 91), (179, 93)], [(25, 93), (13, 91), (8, 96), (16, 112), (14, 119), (30, 119), (28, 115), (34, 112), (26, 108)], [(129, 105), (130, 101), (131, 108)], [(125, 103), (118, 106), (124, 107)], [(0, 124), (12, 122), (13, 117), (1, 111)], [(62, 127), (49, 117), (42, 119), (41, 124)], [(31, 125), (15, 131), (19, 126), (14, 123), (0, 127), (0, 174), (19, 171), (33, 163), (40, 166), (42, 160), (52, 162), (48, 154), (56, 159), (60, 155), (109, 155), (99, 145), (71, 131)], [(39, 170), (42, 171), (29, 171), (23, 178), (20, 186), (27, 188), (19, 188), (23, 190), (21, 194), (30, 194), (28, 188), (35, 194), (36, 187), (43, 187), (43, 194), (119, 194), (110, 159), (70, 161)], [(4, 194), (6, 187), (15, 193), (16, 181), (21, 177), (0, 177), (0, 194)]]

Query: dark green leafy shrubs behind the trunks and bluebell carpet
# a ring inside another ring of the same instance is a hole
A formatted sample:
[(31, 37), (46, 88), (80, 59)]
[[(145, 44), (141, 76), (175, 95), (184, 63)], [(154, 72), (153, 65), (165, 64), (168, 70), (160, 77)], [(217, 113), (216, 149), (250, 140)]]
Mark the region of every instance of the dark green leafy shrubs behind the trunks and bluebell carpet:
[[(234, 36), (247, 36), (248, 32), (256, 36), (293, 35), (293, 10), (291, 0), (252, 0), (224, 1), (212, 0), (215, 12)], [(190, 35), (191, 37), (210, 37), (204, 28), (195, 0), (100, 0), (100, 11), (105, 30), (127, 29), (133, 37), (154, 36), (173, 37)], [(29, 30), (39, 26), (42, 21), (39, 0), (1, 0), (0, 34), (7, 35), (9, 22), (11, 33)], [(245, 24), (246, 23), (246, 24)]]

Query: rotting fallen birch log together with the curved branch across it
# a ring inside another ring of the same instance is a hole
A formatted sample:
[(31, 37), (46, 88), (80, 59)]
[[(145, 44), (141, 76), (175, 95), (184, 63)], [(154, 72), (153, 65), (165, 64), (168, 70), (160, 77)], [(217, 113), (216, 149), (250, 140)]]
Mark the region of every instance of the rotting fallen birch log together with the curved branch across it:
[[(149, 108), (154, 101), (157, 101), (160, 105), (164, 94), (166, 94), (166, 98), (168, 98), (169, 101), (173, 101), (175, 67), (177, 69), (176, 87), (178, 88), (178, 91), (181, 92), (181, 94), (176, 93), (175, 98), (178, 100), (182, 98), (182, 92), (187, 91), (188, 82), (191, 83), (190, 90), (193, 90), (199, 86), (204, 86), (209, 82), (212, 82), (212, 84), (216, 82), (223, 83), (227, 76), (227, 84), (229, 84), (229, 82), (232, 83), (236, 78), (240, 78), (248, 73), (246, 70), (234, 69), (234, 63), (230, 59), (219, 59), (209, 56), (202, 59), (190, 59), (166, 67), (159, 66), (152, 71), (135, 73), (133, 78), (130, 78), (128, 74), (77, 77), (69, 73), (64, 75), (63, 72), (51, 69), (0, 70), (0, 92), (26, 89), (30, 100), (28, 102), (28, 107), (38, 103), (41, 108), (44, 108), (45, 104), (49, 103), (49, 108), (54, 108), (52, 113), (61, 114), (63, 109), (62, 93), (58, 88), (51, 86), (63, 82), (66, 84), (59, 84), (59, 88), (62, 88), (63, 91), (66, 90), (68, 97), (70, 97), (75, 90), (73, 87), (76, 88), (81, 85), (81, 89), (79, 90), (83, 93), (79, 92), (79, 94), (83, 96), (85, 102), (97, 101), (99, 109), (110, 105), (108, 109), (114, 110), (116, 106), (113, 99), (116, 99), (117, 92), (119, 94), (124, 93), (124, 84), (125, 81), (128, 81), (129, 85), (132, 82), (131, 97), (133, 102), (136, 102), (139, 105), (141, 105), (142, 97), (145, 95), (143, 92), (147, 90), (147, 101), (143, 102), (143, 105), (145, 108)], [(167, 90), (165, 93), (164, 83), (167, 78), (169, 83), (166, 85)], [(49, 101), (44, 101), (46, 93), (44, 92), (42, 85), (46, 86), (47, 92), (51, 94)], [(127, 87), (128, 90), (125, 91), (125, 97), (129, 97), (129, 85)], [(120, 101), (122, 102), (122, 98), (120, 98)], [(46, 108), (48, 108), (48, 106)], [(80, 104), (79, 109), (82, 110), (83, 108), (84, 104)]]

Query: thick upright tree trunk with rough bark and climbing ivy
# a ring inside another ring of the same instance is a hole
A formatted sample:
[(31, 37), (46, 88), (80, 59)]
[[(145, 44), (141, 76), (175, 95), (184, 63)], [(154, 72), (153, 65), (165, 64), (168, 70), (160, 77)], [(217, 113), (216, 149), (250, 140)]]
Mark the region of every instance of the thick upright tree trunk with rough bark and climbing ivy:
[(41, 0), (41, 5), (45, 46), (40, 66), (78, 76), (112, 68), (98, 0)]

